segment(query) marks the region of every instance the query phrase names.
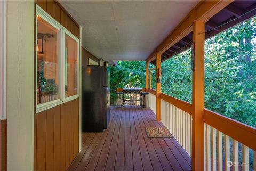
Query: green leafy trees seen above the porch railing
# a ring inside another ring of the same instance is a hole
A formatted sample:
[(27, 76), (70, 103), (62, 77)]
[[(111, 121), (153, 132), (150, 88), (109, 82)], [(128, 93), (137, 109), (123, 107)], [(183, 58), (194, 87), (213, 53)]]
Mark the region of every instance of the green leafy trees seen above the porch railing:
[[(256, 127), (256, 18), (205, 41), (205, 108)], [(161, 91), (191, 103), (191, 50), (161, 64)], [(149, 65), (149, 68), (155, 66)], [(151, 87), (155, 88), (155, 71)], [(111, 67), (111, 89), (144, 87), (145, 62)], [(114, 97), (114, 95), (113, 95)]]

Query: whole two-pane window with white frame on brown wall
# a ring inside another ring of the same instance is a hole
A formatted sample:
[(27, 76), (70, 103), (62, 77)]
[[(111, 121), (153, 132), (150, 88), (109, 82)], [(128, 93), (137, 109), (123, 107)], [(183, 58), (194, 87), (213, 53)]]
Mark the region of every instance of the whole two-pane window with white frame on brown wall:
[(78, 41), (36, 6), (37, 112), (78, 97)]

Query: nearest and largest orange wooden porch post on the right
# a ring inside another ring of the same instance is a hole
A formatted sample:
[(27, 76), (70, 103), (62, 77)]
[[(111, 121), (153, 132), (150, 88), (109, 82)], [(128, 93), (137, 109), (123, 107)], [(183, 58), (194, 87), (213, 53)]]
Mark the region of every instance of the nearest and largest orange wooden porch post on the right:
[(192, 170), (204, 170), (204, 21), (193, 23)]

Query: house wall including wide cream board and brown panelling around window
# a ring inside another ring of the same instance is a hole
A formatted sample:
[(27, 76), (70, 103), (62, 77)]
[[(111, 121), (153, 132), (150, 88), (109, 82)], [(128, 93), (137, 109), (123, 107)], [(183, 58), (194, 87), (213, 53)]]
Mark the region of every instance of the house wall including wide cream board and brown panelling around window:
[[(7, 1), (7, 120), (0, 123), (0, 147), (6, 147), (2, 137), (7, 137), (7, 152), (1, 149), (1, 170), (5, 170), (2, 166), (6, 162), (7, 170), (66, 170), (79, 150), (79, 99), (35, 113), (34, 36), (37, 2)], [(80, 37), (81, 28), (58, 2), (40, 3), (46, 4), (44, 10), (55, 20)], [(68, 128), (60, 129), (64, 124)], [(61, 141), (63, 136), (66, 136), (65, 141)], [(41, 153), (43, 148), (45, 153)], [(7, 161), (2, 156), (7, 156)], [(54, 160), (50, 161), (52, 157)]]

